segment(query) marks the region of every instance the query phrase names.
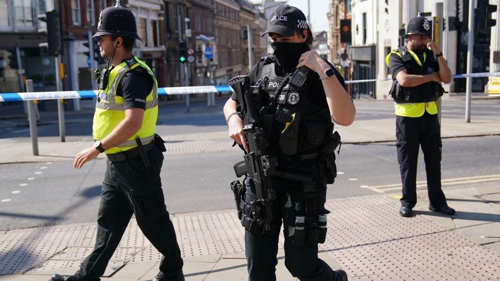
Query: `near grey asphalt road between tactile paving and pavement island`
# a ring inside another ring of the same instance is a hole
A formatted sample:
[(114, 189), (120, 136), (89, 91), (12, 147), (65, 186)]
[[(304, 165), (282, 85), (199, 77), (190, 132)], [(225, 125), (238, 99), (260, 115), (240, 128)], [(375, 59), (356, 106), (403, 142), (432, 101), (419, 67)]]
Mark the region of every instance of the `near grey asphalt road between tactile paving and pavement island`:
[[(464, 185), (500, 184), (500, 137), (443, 140), (444, 190)], [(165, 159), (161, 177), (171, 213), (234, 207), (229, 184), (241, 153), (175, 155)], [(71, 161), (0, 165), (0, 230), (93, 222), (105, 160), (81, 170)], [(393, 143), (345, 144), (337, 157), (339, 175), (328, 198), (399, 193), (399, 165)], [(425, 181), (422, 155), (418, 181)], [(425, 189), (425, 184), (419, 189)], [(452, 205), (452, 203), (451, 203)]]

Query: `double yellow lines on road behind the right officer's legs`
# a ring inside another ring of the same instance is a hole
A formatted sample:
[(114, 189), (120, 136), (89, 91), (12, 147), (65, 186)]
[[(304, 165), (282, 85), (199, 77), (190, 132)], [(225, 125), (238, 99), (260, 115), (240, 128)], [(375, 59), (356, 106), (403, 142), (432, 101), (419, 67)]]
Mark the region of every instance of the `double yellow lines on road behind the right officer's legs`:
[[(442, 179), (441, 185), (459, 185), (459, 184), (482, 183), (490, 181), (500, 181), (500, 174)], [(427, 181), (416, 182), (416, 187), (426, 187), (426, 186), (427, 186)], [(390, 190), (401, 190), (403, 188), (401, 183), (373, 185), (373, 186), (361, 185), (360, 187), (367, 188), (378, 193), (385, 193), (386, 191)]]

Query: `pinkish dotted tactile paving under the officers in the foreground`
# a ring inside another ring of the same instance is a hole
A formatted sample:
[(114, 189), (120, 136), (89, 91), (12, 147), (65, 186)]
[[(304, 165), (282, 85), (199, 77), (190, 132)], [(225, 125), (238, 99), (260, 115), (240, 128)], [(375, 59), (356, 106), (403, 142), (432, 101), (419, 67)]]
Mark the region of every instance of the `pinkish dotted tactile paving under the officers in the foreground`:
[[(322, 245), (355, 280), (500, 280), (498, 253), (424, 215), (402, 218), (384, 195), (328, 200)], [(235, 210), (171, 217), (182, 256), (244, 252)], [(96, 224), (0, 232), (0, 274), (74, 269), (92, 251)], [(283, 247), (280, 233), (279, 247)], [(131, 220), (106, 274), (161, 254)]]

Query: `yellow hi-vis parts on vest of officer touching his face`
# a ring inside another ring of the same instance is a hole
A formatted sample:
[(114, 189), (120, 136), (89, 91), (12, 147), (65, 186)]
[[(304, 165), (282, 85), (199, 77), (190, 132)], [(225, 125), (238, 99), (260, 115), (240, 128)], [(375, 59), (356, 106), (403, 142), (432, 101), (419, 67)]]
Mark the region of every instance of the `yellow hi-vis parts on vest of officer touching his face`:
[[(416, 61), (416, 63), (419, 64), (419, 66), (422, 66), (422, 62), (420, 61), (419, 57), (413, 53), (411, 50), (408, 50), (408, 52), (411, 54), (413, 59)], [(389, 67), (389, 58), (392, 54), (398, 55), (403, 59), (403, 56), (398, 52), (392, 50), (387, 56), (385, 57), (385, 64), (387, 67)], [(427, 54), (424, 52), (424, 62), (427, 58)], [(403, 59), (404, 60), (404, 59)], [(418, 103), (397, 103), (394, 102), (394, 113), (398, 116), (405, 116), (405, 117), (420, 117), (424, 115), (425, 111), (429, 114), (437, 114), (438, 113), (438, 101), (430, 101), (430, 102), (418, 102)]]

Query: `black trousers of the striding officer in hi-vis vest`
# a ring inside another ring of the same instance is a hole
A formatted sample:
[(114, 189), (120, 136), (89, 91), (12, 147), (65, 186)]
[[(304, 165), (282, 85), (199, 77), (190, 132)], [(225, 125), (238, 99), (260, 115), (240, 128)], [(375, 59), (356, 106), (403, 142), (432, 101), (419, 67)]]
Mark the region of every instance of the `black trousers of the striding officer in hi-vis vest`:
[(100, 280), (132, 214), (142, 233), (163, 254), (160, 270), (172, 278), (182, 271), (183, 261), (174, 226), (161, 189), (163, 154), (156, 147), (147, 152), (151, 166), (140, 157), (122, 162), (108, 160), (97, 215), (97, 238), (92, 253), (74, 275), (79, 280)]

